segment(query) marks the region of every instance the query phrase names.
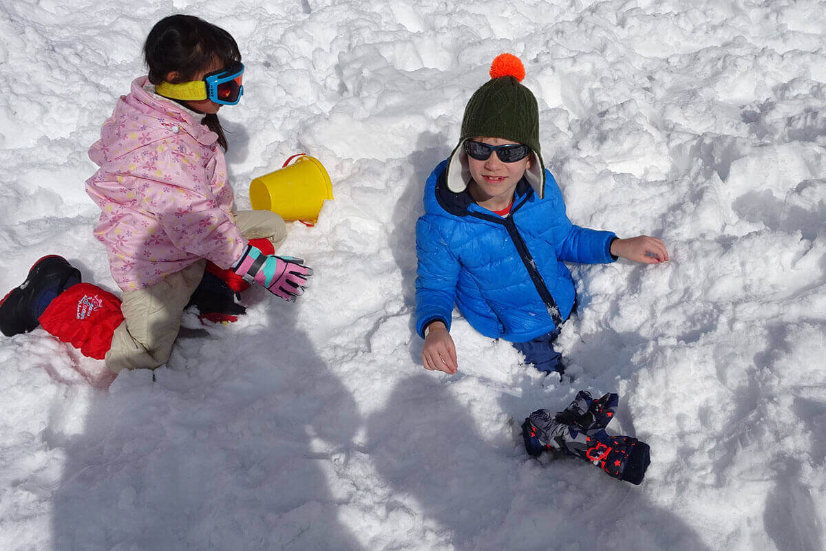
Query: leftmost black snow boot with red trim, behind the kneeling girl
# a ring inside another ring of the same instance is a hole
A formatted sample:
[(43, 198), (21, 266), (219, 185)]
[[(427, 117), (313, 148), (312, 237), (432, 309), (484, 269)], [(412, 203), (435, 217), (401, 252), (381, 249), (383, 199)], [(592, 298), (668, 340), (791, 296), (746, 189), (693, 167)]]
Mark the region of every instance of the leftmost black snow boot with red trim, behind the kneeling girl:
[(57, 296), (80, 283), (80, 271), (64, 257), (49, 255), (31, 266), (29, 275), (0, 300), (0, 331), (6, 337), (30, 332)]

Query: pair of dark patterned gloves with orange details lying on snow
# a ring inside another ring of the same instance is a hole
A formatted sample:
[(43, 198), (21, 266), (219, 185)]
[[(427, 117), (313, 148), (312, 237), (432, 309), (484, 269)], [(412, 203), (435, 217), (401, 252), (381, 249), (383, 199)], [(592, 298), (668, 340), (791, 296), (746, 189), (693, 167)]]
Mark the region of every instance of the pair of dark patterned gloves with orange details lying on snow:
[(544, 450), (562, 450), (596, 465), (610, 477), (642, 483), (651, 463), (648, 444), (631, 436), (610, 436), (605, 432), (618, 403), (615, 393), (595, 400), (581, 390), (562, 412), (539, 409), (531, 413), (522, 424), (525, 450), (534, 456)]

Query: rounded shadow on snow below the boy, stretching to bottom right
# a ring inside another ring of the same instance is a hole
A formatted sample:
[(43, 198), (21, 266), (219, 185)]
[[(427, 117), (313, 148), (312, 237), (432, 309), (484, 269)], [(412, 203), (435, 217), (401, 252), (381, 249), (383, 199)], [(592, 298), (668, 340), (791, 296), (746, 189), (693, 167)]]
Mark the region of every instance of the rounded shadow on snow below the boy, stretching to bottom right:
[(474, 421), (445, 381), (401, 381), (368, 419), (369, 453), (392, 487), (387, 509), (423, 511), (422, 530), (455, 549), (708, 549), (641, 488), (576, 459), (529, 459), (502, 424)]

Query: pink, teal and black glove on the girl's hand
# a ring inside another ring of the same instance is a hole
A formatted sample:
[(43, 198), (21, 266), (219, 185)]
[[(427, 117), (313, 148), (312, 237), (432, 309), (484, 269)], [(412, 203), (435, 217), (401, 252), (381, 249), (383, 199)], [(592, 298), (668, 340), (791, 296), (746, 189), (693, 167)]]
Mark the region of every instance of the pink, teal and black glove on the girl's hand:
[(304, 293), (307, 278), (312, 275), (312, 268), (304, 266), (301, 258), (267, 255), (252, 245), (247, 245), (233, 271), (247, 283), (263, 285), (287, 302)]

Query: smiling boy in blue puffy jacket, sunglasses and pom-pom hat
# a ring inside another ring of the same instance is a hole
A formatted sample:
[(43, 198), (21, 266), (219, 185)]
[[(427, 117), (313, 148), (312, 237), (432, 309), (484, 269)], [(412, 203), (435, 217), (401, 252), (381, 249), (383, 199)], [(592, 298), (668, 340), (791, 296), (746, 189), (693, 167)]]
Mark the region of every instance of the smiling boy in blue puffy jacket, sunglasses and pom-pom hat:
[(416, 223), (416, 331), (426, 370), (455, 374), (453, 304), (478, 332), (503, 338), (542, 371), (563, 372), (553, 350), (576, 302), (564, 262), (653, 264), (665, 245), (645, 235), (581, 228), (542, 162), (539, 107), (519, 59), (498, 56), (465, 108), (462, 135), (425, 185)]

